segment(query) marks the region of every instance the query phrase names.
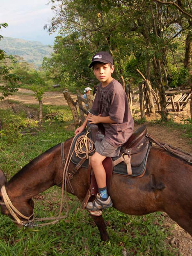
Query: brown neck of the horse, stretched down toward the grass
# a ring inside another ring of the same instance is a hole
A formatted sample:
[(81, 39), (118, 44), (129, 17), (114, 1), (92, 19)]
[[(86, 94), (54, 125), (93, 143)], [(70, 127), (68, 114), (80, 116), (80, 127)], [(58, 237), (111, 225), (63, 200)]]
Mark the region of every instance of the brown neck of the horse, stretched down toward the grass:
[(60, 144), (36, 157), (15, 174), (6, 186), (7, 192), (12, 198), (22, 196), (28, 200), (55, 185), (58, 169), (62, 169)]

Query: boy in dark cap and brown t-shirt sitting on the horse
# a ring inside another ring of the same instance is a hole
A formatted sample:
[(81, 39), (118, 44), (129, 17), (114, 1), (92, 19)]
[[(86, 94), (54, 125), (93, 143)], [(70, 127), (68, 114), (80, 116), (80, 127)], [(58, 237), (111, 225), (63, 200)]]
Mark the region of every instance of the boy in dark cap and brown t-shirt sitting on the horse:
[(98, 211), (112, 206), (111, 198), (107, 193), (106, 172), (102, 162), (107, 156), (119, 156), (121, 146), (132, 135), (134, 121), (122, 85), (111, 76), (114, 71), (112, 56), (108, 52), (96, 53), (89, 65), (89, 68), (91, 67), (100, 84), (93, 106), (75, 134), (84, 131), (87, 121), (90, 124), (102, 123), (105, 128), (105, 137), (101, 142), (96, 140), (95, 153), (91, 157), (99, 194), (86, 206), (89, 211)]

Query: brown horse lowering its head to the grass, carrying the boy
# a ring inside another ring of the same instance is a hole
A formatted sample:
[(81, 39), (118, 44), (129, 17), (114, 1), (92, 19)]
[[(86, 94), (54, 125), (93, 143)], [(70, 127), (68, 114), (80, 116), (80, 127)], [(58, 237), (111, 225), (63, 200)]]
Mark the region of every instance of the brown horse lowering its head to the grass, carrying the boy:
[[(72, 139), (65, 142), (65, 158)], [(0, 188), (5, 184), (7, 194), (23, 215), (33, 213), (32, 197), (57, 185), (62, 180), (61, 145), (50, 148), (23, 167), (7, 182), (0, 171)], [(69, 171), (74, 164), (69, 165)], [(71, 180), (74, 195), (83, 201), (89, 188), (88, 170), (81, 168)], [(146, 173), (142, 178), (125, 177), (113, 174), (111, 198), (113, 207), (131, 214), (144, 215), (151, 212), (166, 212), (192, 236), (192, 165), (166, 152), (152, 147), (148, 156)], [(121, 188), (121, 189), (119, 189)], [(67, 191), (70, 189), (67, 186)], [(3, 203), (0, 192), (0, 203)], [(2, 214), (10, 216), (4, 204)], [(92, 216), (98, 226), (102, 240), (108, 239), (102, 215)]]

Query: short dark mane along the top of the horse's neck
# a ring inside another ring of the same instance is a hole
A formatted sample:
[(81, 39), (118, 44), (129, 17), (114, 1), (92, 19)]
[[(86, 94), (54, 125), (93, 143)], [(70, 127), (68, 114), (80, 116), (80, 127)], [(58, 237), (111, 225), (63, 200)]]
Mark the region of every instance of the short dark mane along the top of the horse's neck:
[(48, 150), (46, 150), (44, 153), (42, 153), (41, 155), (37, 156), (36, 158), (34, 158), (32, 161), (30, 161), (28, 164), (26, 164), (23, 168), (21, 168), (21, 170), (19, 172), (17, 172), (9, 181), (14, 181), (15, 179), (20, 178), (21, 175), (23, 175), (25, 172), (27, 172), (33, 165), (35, 166), (36, 163), (44, 158), (45, 156), (47, 156), (48, 154), (52, 153), (56, 148), (60, 147), (61, 143), (53, 146), (52, 148), (49, 148)]

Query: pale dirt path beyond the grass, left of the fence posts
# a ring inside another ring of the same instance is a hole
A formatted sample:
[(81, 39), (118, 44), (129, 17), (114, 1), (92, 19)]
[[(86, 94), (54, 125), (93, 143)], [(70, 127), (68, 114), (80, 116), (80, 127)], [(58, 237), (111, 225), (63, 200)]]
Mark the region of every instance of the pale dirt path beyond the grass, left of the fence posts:
[[(76, 100), (76, 95), (71, 94), (71, 97)], [(20, 88), (18, 92), (9, 96), (8, 99), (17, 100), (24, 104), (38, 104), (38, 101), (35, 99), (35, 93), (23, 88)], [(42, 101), (44, 105), (67, 106), (67, 101), (65, 100), (62, 92), (45, 92)]]

